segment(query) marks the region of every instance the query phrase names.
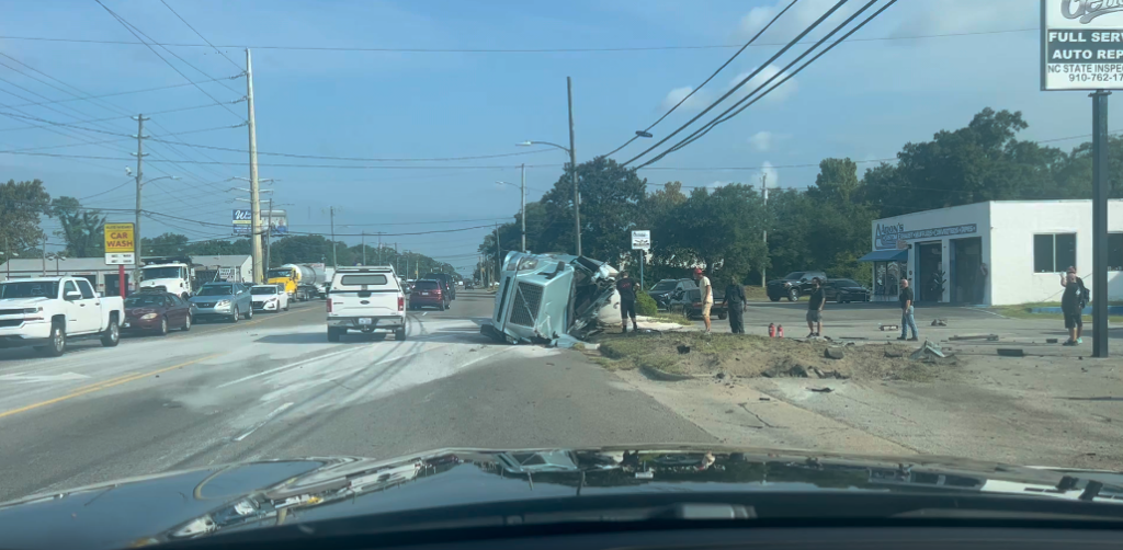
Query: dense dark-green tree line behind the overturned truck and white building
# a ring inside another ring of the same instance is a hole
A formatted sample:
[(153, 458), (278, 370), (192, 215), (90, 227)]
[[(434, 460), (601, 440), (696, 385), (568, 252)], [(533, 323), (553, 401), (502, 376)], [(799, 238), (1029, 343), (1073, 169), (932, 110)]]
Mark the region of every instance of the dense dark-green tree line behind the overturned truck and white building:
[[(907, 143), (895, 163), (858, 175), (850, 158), (824, 158), (807, 189), (770, 189), (767, 204), (757, 182), (688, 187), (655, 186), (636, 169), (597, 157), (578, 164), (582, 248), (585, 256), (638, 269), (633, 229), (651, 230), (647, 282), (687, 276), (702, 267), (721, 281), (760, 282), (760, 271), (782, 276), (824, 271), (869, 283), (858, 258), (871, 249), (874, 220), (924, 210), (999, 200), (1090, 199), (1092, 144), (1066, 152), (1019, 140), (1029, 123), (1020, 111), (986, 108), (967, 126)], [(1123, 138), (1111, 136), (1110, 196), (1123, 198)], [(527, 248), (574, 251), (570, 165), (542, 198), (527, 204)], [(768, 231), (768, 242), (764, 232)], [(497, 239), (497, 245), (496, 245)], [(521, 219), (484, 237), (478, 251), (497, 266), (520, 249)], [(634, 273), (633, 273), (634, 276)]]

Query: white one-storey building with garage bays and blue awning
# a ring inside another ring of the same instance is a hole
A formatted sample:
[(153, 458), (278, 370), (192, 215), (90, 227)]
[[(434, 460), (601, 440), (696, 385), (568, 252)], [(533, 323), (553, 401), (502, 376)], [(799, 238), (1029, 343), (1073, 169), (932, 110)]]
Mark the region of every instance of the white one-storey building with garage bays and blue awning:
[[(1123, 300), (1123, 201), (1108, 201), (1107, 219), (1108, 299)], [(1059, 302), (1069, 266), (1092, 287), (1088, 200), (979, 202), (875, 220), (871, 229), (873, 251), (860, 260), (873, 263), (875, 300), (896, 300), (907, 276), (917, 301)]]

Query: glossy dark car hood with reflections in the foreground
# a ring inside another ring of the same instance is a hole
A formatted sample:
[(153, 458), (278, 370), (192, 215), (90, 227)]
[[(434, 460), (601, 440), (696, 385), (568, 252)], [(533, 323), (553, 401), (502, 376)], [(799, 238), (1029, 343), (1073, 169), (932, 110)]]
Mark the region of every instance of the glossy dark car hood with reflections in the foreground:
[[(124, 548), (464, 504), (676, 492), (987, 493), (1123, 504), (1123, 475), (767, 449), (445, 449), (183, 470), (0, 504), (4, 548)], [(394, 489), (394, 491), (386, 491)], [(1123, 512), (1123, 508), (1120, 508)]]

